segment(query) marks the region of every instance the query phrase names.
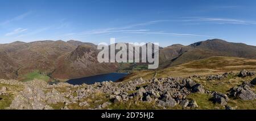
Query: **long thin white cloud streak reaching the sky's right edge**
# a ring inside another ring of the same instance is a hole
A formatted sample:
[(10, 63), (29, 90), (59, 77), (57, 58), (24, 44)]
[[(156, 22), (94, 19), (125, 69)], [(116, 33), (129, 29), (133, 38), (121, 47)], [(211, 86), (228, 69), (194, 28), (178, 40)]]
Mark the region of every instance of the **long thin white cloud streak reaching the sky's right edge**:
[(211, 22), (217, 24), (256, 24), (255, 21), (230, 19), (230, 18), (181, 18), (182, 22)]

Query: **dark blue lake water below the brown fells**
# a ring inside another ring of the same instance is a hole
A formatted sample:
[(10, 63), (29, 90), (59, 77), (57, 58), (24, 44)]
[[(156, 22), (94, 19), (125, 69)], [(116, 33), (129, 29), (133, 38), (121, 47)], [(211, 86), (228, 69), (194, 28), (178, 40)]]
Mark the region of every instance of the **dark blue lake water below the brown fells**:
[(107, 73), (107, 74), (100, 74), (96, 76), (90, 76), (90, 77), (83, 77), (83, 78), (77, 78), (68, 80), (68, 84), (72, 85), (82, 85), (82, 84), (94, 84), (95, 82), (103, 82), (103, 81), (117, 81), (125, 76), (127, 76), (128, 73)]

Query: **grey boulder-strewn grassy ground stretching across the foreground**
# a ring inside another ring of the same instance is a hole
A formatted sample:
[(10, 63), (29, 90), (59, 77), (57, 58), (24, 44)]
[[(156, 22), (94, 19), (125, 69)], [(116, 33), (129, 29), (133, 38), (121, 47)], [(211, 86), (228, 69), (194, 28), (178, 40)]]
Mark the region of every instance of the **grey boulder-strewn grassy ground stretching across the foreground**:
[[(200, 84), (203, 81), (206, 84), (208, 82), (209, 84), (210, 82), (221, 83), (222, 80), (229, 78), (238, 78), (242, 82), (227, 90), (226, 93), (208, 90), (205, 87), (207, 85)], [(245, 78), (252, 78), (252, 80), (243, 81)], [(201, 109), (197, 98), (191, 98), (191, 95), (197, 94), (209, 97), (210, 103), (214, 106), (236, 109), (239, 106), (229, 106), (230, 100), (240, 101), (240, 103), (253, 101), (252, 103), (256, 105), (255, 85), (254, 72), (246, 70), (240, 73), (230, 72), (213, 76), (166, 77), (151, 80), (138, 78), (129, 82), (106, 81), (93, 85), (67, 83), (49, 85), (40, 80), (30, 82), (0, 80), (0, 108)]]

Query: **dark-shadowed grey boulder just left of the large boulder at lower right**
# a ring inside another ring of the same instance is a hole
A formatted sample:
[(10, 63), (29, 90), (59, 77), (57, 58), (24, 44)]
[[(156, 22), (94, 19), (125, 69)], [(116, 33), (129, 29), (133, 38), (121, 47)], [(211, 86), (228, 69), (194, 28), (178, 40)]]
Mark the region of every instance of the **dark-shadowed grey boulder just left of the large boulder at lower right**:
[(228, 104), (228, 101), (229, 101), (228, 95), (217, 93), (217, 92), (213, 92), (212, 95), (213, 95), (212, 100), (214, 103), (219, 103), (222, 106), (225, 106), (226, 104)]

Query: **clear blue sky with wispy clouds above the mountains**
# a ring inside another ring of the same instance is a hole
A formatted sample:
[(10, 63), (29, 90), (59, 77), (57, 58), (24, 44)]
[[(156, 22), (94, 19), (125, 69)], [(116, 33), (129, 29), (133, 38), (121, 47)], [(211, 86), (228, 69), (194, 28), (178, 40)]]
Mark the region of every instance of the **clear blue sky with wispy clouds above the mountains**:
[(256, 1), (0, 0), (0, 43), (80, 40), (256, 45)]

